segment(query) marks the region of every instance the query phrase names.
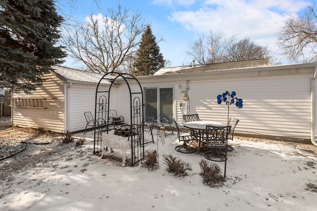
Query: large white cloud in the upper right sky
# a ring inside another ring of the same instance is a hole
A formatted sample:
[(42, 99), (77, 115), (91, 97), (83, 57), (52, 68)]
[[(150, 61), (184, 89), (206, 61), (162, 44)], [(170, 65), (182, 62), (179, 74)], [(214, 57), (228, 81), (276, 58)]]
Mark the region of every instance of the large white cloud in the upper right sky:
[(290, 13), (306, 6), (307, 2), (302, 0), (206, 0), (195, 11), (173, 12), (170, 20), (197, 34), (221, 31), (276, 48), (274, 35), (278, 28)]

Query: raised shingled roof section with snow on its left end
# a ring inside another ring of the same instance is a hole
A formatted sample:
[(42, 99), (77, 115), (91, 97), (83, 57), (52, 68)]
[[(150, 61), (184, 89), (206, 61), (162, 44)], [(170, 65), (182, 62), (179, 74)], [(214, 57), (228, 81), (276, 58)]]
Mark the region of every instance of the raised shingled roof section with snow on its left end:
[(246, 67), (260, 67), (269, 66), (270, 62), (268, 59), (254, 59), (237, 62), (222, 62), (204, 65), (189, 65), (181, 67), (167, 67), (159, 69), (154, 75), (166, 75), (166, 74), (177, 74), (177, 73), (192, 73), (192, 72), (205, 72), (215, 70), (228, 70)]

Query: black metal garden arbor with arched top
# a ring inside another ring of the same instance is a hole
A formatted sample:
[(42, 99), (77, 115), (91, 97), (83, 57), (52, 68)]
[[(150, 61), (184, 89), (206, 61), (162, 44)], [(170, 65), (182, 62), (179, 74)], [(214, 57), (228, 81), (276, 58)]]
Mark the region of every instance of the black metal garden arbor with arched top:
[[(144, 157), (144, 126), (143, 126), (143, 90), (139, 81), (132, 75), (127, 73), (111, 72), (104, 75), (99, 81), (96, 88), (95, 98), (95, 134), (94, 134), (94, 155), (102, 151), (102, 134), (109, 132), (109, 106), (111, 104), (111, 97), (118, 97), (116, 93), (112, 93), (111, 88), (117, 86), (117, 79), (123, 79), (129, 90), (129, 99), (125, 99), (126, 109), (130, 108), (130, 123), (128, 123), (129, 135), (127, 141), (131, 142), (131, 165), (136, 164)], [(137, 87), (131, 87), (129, 82), (136, 82)], [(109, 84), (106, 85), (105, 84)], [(120, 86), (122, 86), (121, 84)], [(124, 97), (123, 97), (124, 98)], [(121, 98), (120, 98), (121, 99)], [(116, 100), (114, 100), (116, 102)], [(123, 105), (121, 104), (121, 107)], [(126, 118), (125, 118), (126, 121)]]

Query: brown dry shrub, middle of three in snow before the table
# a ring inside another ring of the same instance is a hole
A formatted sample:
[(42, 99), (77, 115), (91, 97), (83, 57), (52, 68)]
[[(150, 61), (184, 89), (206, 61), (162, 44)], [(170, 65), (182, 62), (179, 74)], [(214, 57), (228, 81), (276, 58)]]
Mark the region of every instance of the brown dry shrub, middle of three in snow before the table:
[(167, 171), (173, 173), (175, 176), (186, 176), (186, 170), (192, 170), (190, 163), (186, 163), (182, 159), (172, 155), (163, 155), (163, 162), (167, 166)]

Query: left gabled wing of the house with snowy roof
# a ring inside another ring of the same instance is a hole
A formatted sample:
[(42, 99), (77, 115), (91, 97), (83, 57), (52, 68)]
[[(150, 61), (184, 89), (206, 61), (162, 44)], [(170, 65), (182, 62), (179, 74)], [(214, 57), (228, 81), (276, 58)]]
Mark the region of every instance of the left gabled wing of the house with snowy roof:
[(103, 75), (60, 66), (53, 69), (43, 76), (43, 85), (31, 94), (13, 93), (13, 126), (54, 132), (85, 129), (84, 112), (94, 114), (96, 86)]

